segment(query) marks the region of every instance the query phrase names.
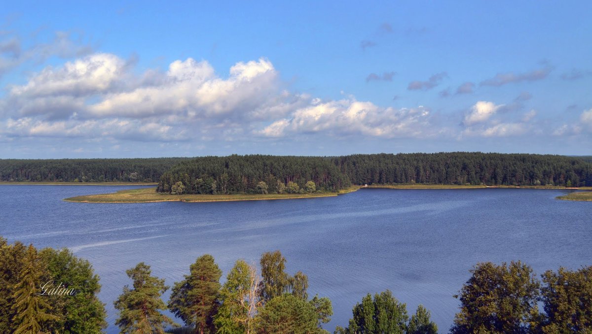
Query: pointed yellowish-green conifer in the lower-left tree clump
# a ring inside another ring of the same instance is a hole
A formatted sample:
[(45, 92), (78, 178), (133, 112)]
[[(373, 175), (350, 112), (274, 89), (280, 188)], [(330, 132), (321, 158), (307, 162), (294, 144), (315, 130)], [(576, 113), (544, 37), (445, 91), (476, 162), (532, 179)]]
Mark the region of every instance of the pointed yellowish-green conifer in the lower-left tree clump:
[(21, 280), (14, 286), (15, 304), (12, 306), (16, 314), (14, 323), (17, 324), (18, 333), (38, 333), (41, 331), (44, 322), (59, 320), (59, 317), (48, 313), (50, 305), (40, 296), (38, 287), (40, 278), (43, 275), (41, 264), (37, 261), (37, 249), (29, 245), (22, 268)]

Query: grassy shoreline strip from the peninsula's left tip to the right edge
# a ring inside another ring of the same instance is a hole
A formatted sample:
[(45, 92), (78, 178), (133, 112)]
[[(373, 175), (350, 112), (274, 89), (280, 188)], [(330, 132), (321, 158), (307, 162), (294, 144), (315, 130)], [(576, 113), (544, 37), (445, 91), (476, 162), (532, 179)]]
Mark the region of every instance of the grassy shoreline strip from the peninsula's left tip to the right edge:
[[(401, 185), (372, 185), (372, 186), (353, 186), (348, 189), (342, 189), (339, 193), (304, 193), (304, 194), (182, 194), (172, 195), (157, 193), (154, 187), (142, 188), (142, 189), (127, 189), (119, 190), (115, 193), (107, 194), (91, 194), (83, 196), (69, 197), (65, 200), (66, 202), (78, 202), (78, 203), (156, 203), (156, 202), (230, 202), (240, 200), (276, 200), (276, 199), (301, 199), (301, 198), (314, 198), (314, 197), (332, 197), (338, 196), (339, 194), (346, 194), (355, 192), (359, 189), (488, 189), (498, 188), (488, 186), (457, 186), (457, 185), (445, 185), (445, 184), (401, 184)], [(517, 187), (517, 186), (499, 186), (499, 188), (505, 189), (568, 189), (565, 187), (549, 187), (549, 186), (530, 186), (530, 187)], [(579, 188), (580, 190), (590, 190), (592, 187)], [(592, 192), (578, 192), (589, 193)], [(588, 200), (588, 199), (571, 199), (561, 198), (570, 196), (558, 196), (558, 199), (565, 200)], [(589, 199), (592, 200), (592, 199)]]

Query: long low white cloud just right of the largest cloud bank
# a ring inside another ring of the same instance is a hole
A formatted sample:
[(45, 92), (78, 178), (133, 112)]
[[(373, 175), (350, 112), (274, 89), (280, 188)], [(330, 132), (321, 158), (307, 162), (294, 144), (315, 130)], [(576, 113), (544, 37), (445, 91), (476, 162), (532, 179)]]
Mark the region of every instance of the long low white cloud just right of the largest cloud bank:
[(275, 121), (256, 133), (266, 137), (323, 132), (336, 136), (359, 134), (382, 138), (423, 138), (435, 134), (435, 131), (430, 127), (430, 111), (423, 106), (380, 108), (371, 102), (349, 98), (300, 108), (290, 118)]

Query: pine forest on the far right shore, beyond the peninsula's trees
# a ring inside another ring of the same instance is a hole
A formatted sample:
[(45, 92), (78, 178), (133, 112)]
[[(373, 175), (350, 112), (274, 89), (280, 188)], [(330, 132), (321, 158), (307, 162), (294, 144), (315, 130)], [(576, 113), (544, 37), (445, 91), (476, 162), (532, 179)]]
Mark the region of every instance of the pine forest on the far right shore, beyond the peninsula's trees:
[(353, 184), (592, 186), (592, 164), (577, 157), (499, 153), (354, 154), (332, 158)]

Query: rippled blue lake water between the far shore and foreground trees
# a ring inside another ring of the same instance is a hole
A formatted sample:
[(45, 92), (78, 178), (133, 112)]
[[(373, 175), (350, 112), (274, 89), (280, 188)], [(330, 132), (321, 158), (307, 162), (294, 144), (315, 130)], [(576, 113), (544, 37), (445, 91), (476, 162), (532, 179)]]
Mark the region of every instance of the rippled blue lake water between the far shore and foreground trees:
[[(259, 262), (281, 250), (287, 271), (308, 275), (310, 296), (329, 297), (333, 331), (354, 304), (386, 289), (432, 312), (447, 332), (452, 297), (480, 261), (522, 260), (537, 274), (592, 264), (592, 203), (556, 200), (564, 190), (361, 189), (316, 199), (218, 203), (99, 204), (65, 197), (133, 186), (0, 186), (0, 235), (36, 247), (67, 247), (101, 277), (108, 333), (112, 301), (144, 261), (172, 286), (189, 264), (212, 254), (223, 280), (238, 258)], [(167, 291), (163, 299), (168, 300)], [(181, 321), (179, 320), (179, 323)]]

